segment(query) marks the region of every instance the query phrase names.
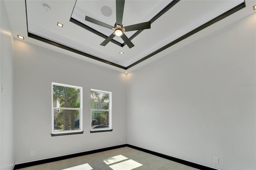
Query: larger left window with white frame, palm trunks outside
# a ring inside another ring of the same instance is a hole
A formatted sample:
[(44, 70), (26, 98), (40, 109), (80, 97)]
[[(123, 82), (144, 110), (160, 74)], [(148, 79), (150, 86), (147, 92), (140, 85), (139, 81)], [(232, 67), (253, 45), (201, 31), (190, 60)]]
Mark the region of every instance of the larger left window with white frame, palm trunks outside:
[(52, 83), (52, 136), (82, 133), (82, 87)]

